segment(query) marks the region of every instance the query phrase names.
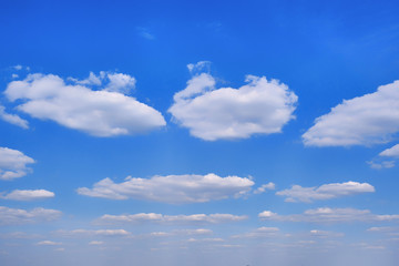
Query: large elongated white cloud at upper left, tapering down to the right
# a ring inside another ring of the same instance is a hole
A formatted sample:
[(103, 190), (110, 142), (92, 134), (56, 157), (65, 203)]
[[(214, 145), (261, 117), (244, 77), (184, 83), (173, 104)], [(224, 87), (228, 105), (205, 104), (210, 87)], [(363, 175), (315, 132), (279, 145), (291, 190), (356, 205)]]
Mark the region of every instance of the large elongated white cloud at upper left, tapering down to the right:
[(12, 102), (22, 101), (17, 106), (21, 112), (94, 136), (139, 134), (165, 125), (160, 112), (123, 94), (134, 88), (130, 75), (101, 72), (68, 81), (71, 84), (53, 74), (29, 74), (10, 82), (4, 93)]

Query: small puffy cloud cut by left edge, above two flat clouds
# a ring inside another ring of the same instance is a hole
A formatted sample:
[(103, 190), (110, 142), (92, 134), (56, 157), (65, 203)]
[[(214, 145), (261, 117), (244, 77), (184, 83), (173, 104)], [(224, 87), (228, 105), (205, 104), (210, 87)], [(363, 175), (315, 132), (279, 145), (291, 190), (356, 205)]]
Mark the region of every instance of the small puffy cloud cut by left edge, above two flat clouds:
[(20, 151), (0, 147), (0, 180), (13, 180), (22, 177), (31, 170), (27, 164), (34, 163), (34, 160)]

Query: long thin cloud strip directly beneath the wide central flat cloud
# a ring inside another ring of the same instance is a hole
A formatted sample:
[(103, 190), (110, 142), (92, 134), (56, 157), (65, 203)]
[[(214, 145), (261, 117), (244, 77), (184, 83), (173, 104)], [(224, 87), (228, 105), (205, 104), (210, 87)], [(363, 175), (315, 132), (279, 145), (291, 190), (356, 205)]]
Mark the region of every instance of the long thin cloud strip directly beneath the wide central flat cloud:
[(117, 223), (161, 223), (161, 224), (219, 224), (247, 219), (245, 215), (233, 214), (192, 214), (192, 215), (163, 215), (155, 213), (139, 213), (110, 215), (105, 214), (95, 221), (95, 224)]

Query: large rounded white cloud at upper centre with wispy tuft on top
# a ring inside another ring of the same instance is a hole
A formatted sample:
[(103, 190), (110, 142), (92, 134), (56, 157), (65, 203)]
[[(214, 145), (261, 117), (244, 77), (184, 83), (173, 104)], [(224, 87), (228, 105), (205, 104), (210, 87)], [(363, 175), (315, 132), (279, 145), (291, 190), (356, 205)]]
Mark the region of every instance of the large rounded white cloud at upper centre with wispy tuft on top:
[[(187, 66), (193, 72), (207, 63)], [(211, 74), (195, 74), (183, 91), (175, 93), (168, 112), (192, 135), (206, 141), (282, 132), (295, 117), (297, 95), (287, 85), (265, 76), (247, 75), (246, 82), (238, 89), (216, 89)]]

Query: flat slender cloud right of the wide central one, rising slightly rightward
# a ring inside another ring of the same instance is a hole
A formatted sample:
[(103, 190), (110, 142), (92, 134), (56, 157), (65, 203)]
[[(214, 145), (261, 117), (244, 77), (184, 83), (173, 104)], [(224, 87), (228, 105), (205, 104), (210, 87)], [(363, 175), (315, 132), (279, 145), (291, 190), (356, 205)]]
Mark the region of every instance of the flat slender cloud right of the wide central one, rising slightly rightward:
[(345, 182), (331, 183), (319, 187), (301, 187), (294, 185), (289, 190), (279, 191), (276, 195), (286, 196), (286, 202), (307, 202), (330, 200), (360, 193), (375, 192), (375, 187), (368, 183)]

